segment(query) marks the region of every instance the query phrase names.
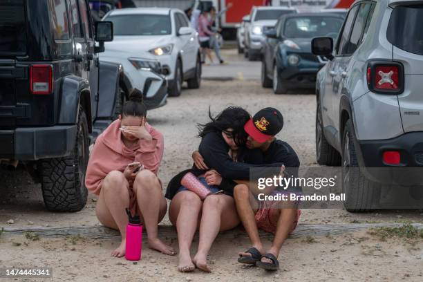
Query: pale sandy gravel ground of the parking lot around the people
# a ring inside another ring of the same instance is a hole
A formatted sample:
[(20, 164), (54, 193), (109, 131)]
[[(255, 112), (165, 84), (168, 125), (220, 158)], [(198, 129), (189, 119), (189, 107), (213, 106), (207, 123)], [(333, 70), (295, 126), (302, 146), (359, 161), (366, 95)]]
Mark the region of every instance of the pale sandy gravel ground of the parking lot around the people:
[[(314, 149), (315, 96), (313, 91), (274, 95), (259, 82), (260, 62), (246, 62), (234, 50), (225, 50), (227, 66), (205, 66), (203, 77), (234, 77), (226, 82), (203, 80), (199, 90), (184, 89), (182, 95), (169, 98), (168, 104), (148, 113), (149, 122), (164, 134), (165, 151), (159, 176), (164, 187), (178, 171), (191, 166), (191, 152), (199, 144), (196, 124), (207, 122), (209, 107), (218, 113), (226, 106), (243, 106), (254, 113), (265, 106), (275, 106), (284, 115), (285, 126), (278, 135), (297, 151), (301, 164), (317, 166)], [(304, 94), (306, 93), (306, 94)], [(0, 174), (0, 228), (14, 220), (20, 226), (91, 226), (98, 225), (95, 202), (89, 196), (86, 208), (73, 214), (46, 212), (41, 187), (33, 184), (26, 172)], [(382, 210), (368, 214), (350, 214), (344, 209), (306, 209), (300, 223), (423, 223), (422, 210)], [(166, 217), (162, 225), (169, 225)], [(4, 237), (4, 236), (3, 236)], [(365, 239), (359, 239), (366, 237)], [(333, 239), (318, 238), (308, 244), (290, 239), (281, 253), (281, 270), (268, 276), (261, 270), (236, 263), (236, 254), (249, 247), (247, 239), (225, 241), (218, 238), (210, 259), (214, 274), (179, 274), (177, 260), (144, 247), (138, 265), (109, 257), (118, 241), (66, 239), (28, 242), (23, 238), (0, 237), (0, 267), (43, 266), (54, 268), (55, 280), (94, 281), (423, 281), (422, 241), (413, 247), (402, 241), (378, 242), (365, 233), (347, 234)], [(19, 247), (12, 242), (28, 243)], [(170, 242), (177, 247), (176, 241)], [(267, 244), (270, 242), (267, 242)], [(379, 244), (379, 245), (377, 245)], [(73, 250), (75, 249), (75, 250)], [(196, 250), (196, 243), (194, 243)], [(193, 252), (194, 252), (193, 250)], [(189, 279), (188, 279), (189, 280)]]

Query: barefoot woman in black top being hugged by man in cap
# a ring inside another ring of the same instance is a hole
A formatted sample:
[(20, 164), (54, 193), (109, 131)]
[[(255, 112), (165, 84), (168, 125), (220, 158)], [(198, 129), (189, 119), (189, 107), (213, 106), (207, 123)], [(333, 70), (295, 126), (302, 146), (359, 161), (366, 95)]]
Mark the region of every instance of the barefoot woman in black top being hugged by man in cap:
[[(204, 164), (194, 164), (192, 169), (182, 171), (169, 182), (166, 198), (171, 200), (169, 218), (176, 226), (179, 241), (178, 270), (194, 271), (195, 267), (205, 272), (211, 269), (207, 265), (207, 254), (219, 232), (236, 227), (240, 220), (236, 212), (233, 190), (236, 185), (232, 180), (248, 180), (250, 168), (257, 164), (237, 162), (238, 151), (243, 150), (247, 134), (245, 123), (250, 114), (239, 107), (229, 107), (213, 118), (211, 122), (199, 126), (201, 137), (198, 151), (204, 158)], [(261, 155), (260, 155), (261, 156)], [(205, 200), (193, 191), (181, 186), (181, 179), (191, 172), (212, 193)], [(194, 259), (189, 253), (192, 239), (199, 229), (200, 241)]]

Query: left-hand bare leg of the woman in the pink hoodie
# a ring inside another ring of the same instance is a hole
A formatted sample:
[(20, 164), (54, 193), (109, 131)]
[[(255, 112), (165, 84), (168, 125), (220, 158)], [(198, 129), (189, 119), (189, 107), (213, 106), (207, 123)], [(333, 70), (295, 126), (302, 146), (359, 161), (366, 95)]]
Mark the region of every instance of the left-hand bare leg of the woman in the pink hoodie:
[(111, 171), (103, 180), (100, 197), (95, 213), (102, 225), (119, 229), (120, 246), (112, 252), (112, 256), (124, 256), (126, 245), (126, 225), (128, 216), (125, 208), (129, 207), (128, 181), (120, 171)]

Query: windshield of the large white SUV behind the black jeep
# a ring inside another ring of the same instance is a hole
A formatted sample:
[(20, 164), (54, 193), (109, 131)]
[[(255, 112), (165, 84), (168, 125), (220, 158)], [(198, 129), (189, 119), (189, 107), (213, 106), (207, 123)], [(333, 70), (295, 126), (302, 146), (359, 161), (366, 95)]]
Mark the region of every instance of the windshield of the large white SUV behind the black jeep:
[(112, 15), (106, 21), (113, 22), (114, 35), (171, 34), (169, 15)]

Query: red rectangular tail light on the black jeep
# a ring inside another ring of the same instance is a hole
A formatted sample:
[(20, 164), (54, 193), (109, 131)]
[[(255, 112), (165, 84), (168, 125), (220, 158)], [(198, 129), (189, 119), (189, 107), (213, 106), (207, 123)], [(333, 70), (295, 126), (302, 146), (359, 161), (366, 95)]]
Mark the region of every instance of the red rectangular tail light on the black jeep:
[(50, 65), (32, 65), (30, 68), (31, 93), (50, 94), (53, 91), (53, 68)]

